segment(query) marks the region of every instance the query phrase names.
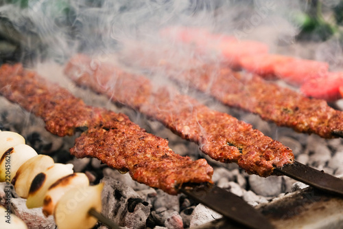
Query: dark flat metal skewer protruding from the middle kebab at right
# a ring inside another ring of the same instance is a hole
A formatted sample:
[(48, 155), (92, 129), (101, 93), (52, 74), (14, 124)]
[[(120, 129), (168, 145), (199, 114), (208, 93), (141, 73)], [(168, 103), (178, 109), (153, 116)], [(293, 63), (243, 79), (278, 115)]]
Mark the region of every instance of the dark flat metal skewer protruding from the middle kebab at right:
[(275, 172), (275, 175), (278, 175), (278, 173), (287, 175), (287, 177), (296, 179), (324, 192), (343, 196), (343, 179), (324, 173), (324, 171), (318, 171), (300, 162), (286, 164), (282, 168), (274, 168)]

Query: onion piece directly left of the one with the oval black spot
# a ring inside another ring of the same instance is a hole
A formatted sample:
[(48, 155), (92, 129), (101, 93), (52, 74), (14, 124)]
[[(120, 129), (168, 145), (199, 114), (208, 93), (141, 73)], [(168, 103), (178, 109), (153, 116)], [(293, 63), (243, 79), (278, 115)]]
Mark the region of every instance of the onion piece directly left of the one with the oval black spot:
[[(32, 184), (34, 177), (38, 173), (43, 173), (47, 168), (54, 165), (54, 160), (47, 155), (36, 155), (30, 158), (20, 166), (16, 175), (12, 179), (12, 184), (18, 194), (22, 198), (27, 198), (29, 195), (29, 187)], [(29, 171), (29, 173), (27, 172)]]

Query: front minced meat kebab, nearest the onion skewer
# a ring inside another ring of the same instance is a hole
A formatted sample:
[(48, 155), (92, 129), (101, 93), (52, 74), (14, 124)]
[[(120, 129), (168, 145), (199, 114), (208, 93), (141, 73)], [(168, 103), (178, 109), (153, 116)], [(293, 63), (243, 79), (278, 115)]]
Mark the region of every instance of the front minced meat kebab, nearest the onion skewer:
[(211, 182), (213, 168), (206, 160), (177, 155), (167, 140), (147, 133), (127, 116), (87, 106), (67, 89), (21, 65), (1, 66), (0, 94), (43, 118), (51, 133), (71, 135), (77, 127), (88, 127), (71, 149), (76, 157), (95, 157), (111, 168), (129, 171), (138, 182), (174, 195), (180, 184)]

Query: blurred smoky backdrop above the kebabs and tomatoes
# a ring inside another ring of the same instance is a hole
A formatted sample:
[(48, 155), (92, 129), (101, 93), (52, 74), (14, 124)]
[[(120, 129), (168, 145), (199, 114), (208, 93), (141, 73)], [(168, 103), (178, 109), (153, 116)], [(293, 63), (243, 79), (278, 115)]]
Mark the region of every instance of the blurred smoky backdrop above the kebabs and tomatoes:
[(271, 47), (324, 43), (331, 56), (342, 56), (342, 0), (5, 0), (0, 1), (0, 61), (63, 63), (75, 52), (113, 52), (123, 39), (154, 37), (174, 24)]

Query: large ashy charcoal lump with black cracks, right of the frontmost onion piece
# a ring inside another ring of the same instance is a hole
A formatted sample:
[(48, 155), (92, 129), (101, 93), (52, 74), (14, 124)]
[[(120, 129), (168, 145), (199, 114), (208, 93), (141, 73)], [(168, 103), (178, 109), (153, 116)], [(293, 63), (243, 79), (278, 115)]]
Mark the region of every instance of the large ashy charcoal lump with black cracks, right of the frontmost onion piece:
[(151, 206), (129, 186), (112, 177), (104, 177), (102, 212), (109, 219), (130, 229), (145, 228)]

